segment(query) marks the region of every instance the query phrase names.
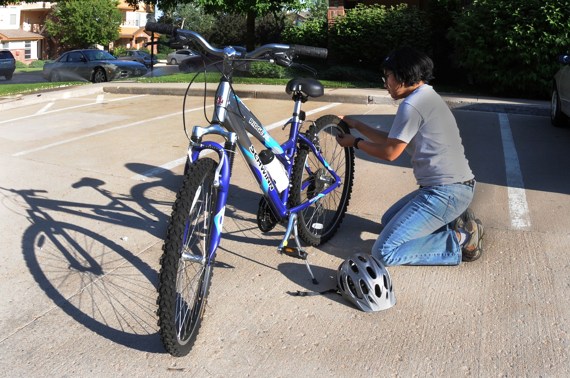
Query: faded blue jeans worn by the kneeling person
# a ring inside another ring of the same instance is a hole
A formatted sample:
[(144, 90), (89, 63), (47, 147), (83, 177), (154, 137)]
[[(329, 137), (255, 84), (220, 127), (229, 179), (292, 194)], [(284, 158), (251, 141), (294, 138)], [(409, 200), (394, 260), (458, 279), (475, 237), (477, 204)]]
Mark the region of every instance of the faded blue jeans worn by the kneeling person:
[(473, 200), (463, 184), (420, 187), (382, 216), (384, 229), (372, 256), (384, 265), (459, 265), (461, 245), (453, 221)]

